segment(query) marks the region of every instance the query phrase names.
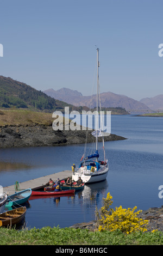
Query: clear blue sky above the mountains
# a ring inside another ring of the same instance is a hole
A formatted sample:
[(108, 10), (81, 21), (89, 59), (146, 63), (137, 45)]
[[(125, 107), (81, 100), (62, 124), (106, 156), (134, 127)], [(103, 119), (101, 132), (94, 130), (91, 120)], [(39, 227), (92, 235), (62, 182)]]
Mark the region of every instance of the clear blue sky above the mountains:
[[(135, 100), (163, 94), (162, 0), (0, 0), (0, 75)], [(0, 51), (1, 53), (1, 51)]]

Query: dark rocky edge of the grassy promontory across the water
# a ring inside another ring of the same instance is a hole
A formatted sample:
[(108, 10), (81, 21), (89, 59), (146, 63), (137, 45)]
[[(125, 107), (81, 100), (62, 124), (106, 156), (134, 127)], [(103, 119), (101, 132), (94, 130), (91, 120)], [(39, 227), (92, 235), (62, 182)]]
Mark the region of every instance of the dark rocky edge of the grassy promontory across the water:
[[(52, 126), (2, 126), (0, 127), (0, 148), (12, 147), (45, 147), (67, 144), (80, 144), (93, 141), (92, 131), (54, 131)], [(118, 141), (123, 138), (117, 135), (104, 137), (105, 141)]]

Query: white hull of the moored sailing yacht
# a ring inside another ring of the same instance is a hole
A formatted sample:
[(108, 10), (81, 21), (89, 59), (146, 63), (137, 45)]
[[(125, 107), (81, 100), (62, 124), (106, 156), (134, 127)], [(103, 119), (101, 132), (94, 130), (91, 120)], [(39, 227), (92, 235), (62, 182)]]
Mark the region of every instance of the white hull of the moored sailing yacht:
[(98, 182), (105, 180), (108, 175), (108, 166), (105, 167), (103, 170), (98, 170), (98, 172), (86, 174), (86, 172), (83, 172), (82, 168), (77, 170), (76, 173), (72, 175), (72, 180), (77, 181), (79, 177), (83, 180), (83, 182), (89, 184), (93, 182)]

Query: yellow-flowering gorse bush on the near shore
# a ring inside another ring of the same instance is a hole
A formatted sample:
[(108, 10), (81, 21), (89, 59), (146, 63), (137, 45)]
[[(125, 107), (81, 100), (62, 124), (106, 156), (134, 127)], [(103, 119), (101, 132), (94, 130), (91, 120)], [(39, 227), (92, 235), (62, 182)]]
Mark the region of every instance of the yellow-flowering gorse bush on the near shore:
[(112, 196), (110, 193), (107, 194), (106, 198), (103, 198), (103, 206), (98, 211), (96, 210), (96, 217), (98, 223), (98, 230), (121, 230), (126, 234), (130, 234), (135, 231), (147, 231), (148, 221), (142, 220), (137, 215), (142, 210), (136, 211), (137, 206), (133, 209), (123, 209), (122, 206), (116, 207), (115, 210), (110, 208), (112, 204)]

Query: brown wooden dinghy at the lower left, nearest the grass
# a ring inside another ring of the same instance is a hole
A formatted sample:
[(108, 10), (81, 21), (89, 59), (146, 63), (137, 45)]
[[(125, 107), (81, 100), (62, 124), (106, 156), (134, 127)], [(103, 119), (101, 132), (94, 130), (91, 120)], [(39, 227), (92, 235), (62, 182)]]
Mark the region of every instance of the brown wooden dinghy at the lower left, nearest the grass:
[(26, 215), (26, 207), (16, 208), (0, 214), (0, 227), (11, 226), (20, 223)]

